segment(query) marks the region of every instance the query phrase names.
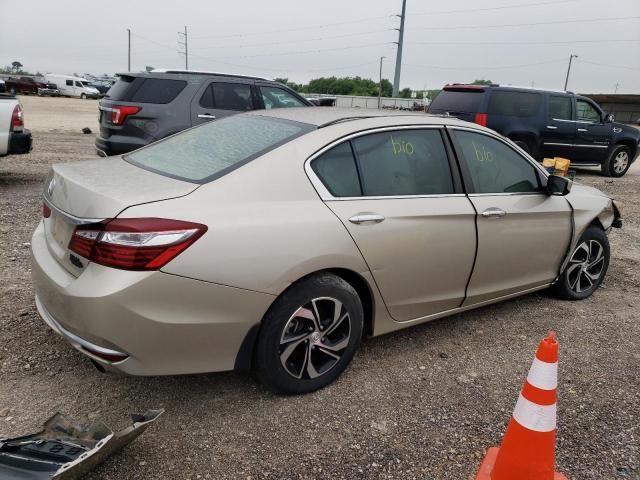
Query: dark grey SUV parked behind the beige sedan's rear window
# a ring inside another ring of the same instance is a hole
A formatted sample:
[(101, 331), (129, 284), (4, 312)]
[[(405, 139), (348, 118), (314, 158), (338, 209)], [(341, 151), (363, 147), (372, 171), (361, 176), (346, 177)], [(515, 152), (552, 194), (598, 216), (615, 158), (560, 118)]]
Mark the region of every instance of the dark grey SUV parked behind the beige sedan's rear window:
[(259, 77), (191, 70), (120, 73), (100, 101), (96, 149), (99, 155), (119, 155), (235, 113), (308, 106), (285, 85)]

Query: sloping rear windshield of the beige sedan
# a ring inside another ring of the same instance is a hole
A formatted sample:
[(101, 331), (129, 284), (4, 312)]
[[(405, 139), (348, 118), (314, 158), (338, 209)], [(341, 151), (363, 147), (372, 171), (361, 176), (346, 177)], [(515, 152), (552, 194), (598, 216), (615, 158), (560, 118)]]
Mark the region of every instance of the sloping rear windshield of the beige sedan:
[(185, 130), (124, 157), (147, 170), (207, 183), (314, 127), (256, 115), (233, 115)]

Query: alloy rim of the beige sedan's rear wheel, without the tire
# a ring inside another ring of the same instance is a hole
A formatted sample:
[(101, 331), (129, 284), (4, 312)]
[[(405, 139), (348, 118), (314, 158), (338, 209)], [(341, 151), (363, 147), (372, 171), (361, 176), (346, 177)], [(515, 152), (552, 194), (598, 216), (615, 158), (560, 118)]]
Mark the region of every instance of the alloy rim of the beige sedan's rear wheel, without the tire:
[(313, 380), (336, 366), (349, 345), (351, 317), (342, 302), (314, 298), (289, 318), (280, 336), (280, 362), (299, 380)]

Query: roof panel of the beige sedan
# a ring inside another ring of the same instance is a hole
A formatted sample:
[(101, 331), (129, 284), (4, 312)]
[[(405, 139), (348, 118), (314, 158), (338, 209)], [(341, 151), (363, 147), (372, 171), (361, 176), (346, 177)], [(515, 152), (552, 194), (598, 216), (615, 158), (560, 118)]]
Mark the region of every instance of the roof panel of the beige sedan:
[(335, 108), (335, 107), (305, 107), (305, 108), (276, 108), (272, 110), (256, 110), (247, 115), (280, 118), (293, 122), (301, 122), (323, 128), (342, 122), (358, 122), (372, 118), (386, 118), (389, 125), (419, 123), (426, 125), (460, 125), (474, 128), (480, 127), (457, 118), (444, 115), (427, 115), (425, 113), (399, 112), (397, 110), (374, 110), (364, 108)]

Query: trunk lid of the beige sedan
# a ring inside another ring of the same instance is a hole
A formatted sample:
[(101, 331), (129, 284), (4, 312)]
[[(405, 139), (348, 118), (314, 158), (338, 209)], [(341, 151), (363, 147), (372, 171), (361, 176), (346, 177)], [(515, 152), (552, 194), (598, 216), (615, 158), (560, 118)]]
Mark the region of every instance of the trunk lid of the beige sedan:
[(182, 197), (197, 187), (143, 170), (122, 158), (54, 165), (44, 192), (49, 251), (67, 271), (78, 276), (88, 261), (69, 250), (76, 226), (115, 218), (133, 205)]

